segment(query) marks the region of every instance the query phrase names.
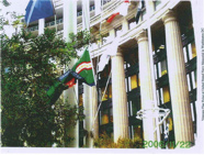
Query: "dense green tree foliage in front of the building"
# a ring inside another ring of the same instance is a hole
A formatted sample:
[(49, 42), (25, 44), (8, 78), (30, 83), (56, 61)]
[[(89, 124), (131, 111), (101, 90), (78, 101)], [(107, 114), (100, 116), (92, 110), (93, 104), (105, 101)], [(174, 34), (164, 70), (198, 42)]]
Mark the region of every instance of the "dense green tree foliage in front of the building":
[(2, 146), (64, 146), (72, 140), (71, 129), (81, 109), (49, 103), (47, 89), (71, 58), (76, 42), (66, 43), (54, 31), (32, 37), (22, 31), (9, 38), (2, 35), (1, 140)]

